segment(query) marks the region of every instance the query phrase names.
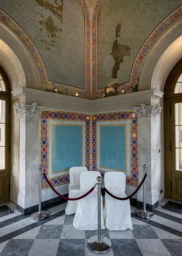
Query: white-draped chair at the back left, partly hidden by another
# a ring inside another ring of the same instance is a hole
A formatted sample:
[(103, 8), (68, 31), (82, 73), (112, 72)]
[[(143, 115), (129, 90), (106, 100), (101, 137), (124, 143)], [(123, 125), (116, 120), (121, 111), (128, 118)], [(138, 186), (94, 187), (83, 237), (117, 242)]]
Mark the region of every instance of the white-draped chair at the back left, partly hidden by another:
[[(80, 194), (80, 174), (83, 171), (87, 171), (87, 168), (84, 166), (76, 166), (70, 168), (70, 183), (69, 183), (69, 195), (70, 198), (78, 197)], [(78, 206), (78, 200), (76, 201), (68, 201), (65, 214), (71, 215), (76, 213)]]

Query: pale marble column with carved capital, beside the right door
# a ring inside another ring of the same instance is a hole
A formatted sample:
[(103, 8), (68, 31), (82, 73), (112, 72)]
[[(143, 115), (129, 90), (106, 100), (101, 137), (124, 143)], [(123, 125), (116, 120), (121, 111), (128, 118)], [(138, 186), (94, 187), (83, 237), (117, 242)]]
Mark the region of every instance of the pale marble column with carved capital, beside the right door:
[[(157, 159), (160, 157), (157, 143), (157, 140), (160, 140), (160, 134), (157, 131), (162, 107), (160, 107), (160, 104), (155, 106), (141, 104), (140, 107), (133, 109), (138, 115), (139, 183), (143, 179), (143, 164), (146, 164), (149, 170), (146, 203), (153, 206), (159, 200), (160, 187), (156, 179), (159, 172), (162, 171), (157, 168)], [(143, 186), (137, 194), (137, 201), (143, 202)]]

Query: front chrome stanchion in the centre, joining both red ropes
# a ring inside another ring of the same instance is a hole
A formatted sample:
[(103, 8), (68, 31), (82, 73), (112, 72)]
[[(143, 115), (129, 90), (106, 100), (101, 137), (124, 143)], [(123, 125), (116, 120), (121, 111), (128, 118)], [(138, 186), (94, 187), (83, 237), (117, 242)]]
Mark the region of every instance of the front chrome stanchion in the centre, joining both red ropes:
[(97, 203), (98, 203), (98, 235), (91, 236), (87, 242), (88, 248), (95, 253), (105, 253), (111, 249), (111, 241), (105, 236), (101, 236), (101, 184), (102, 178), (97, 177)]

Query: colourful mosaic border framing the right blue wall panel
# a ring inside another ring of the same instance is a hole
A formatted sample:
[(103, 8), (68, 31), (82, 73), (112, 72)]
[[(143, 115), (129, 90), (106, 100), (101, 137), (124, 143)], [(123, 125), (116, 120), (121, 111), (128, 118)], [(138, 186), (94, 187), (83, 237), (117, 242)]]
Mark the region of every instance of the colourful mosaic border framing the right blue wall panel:
[[(138, 120), (137, 115), (131, 112), (117, 112), (107, 114), (92, 115), (92, 170), (97, 170), (97, 121), (109, 120), (131, 120), (131, 178), (126, 177), (126, 184), (130, 186), (138, 186)], [(100, 172), (104, 177), (104, 172)]]

